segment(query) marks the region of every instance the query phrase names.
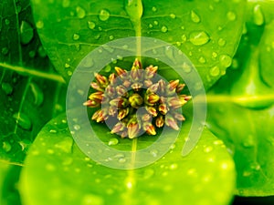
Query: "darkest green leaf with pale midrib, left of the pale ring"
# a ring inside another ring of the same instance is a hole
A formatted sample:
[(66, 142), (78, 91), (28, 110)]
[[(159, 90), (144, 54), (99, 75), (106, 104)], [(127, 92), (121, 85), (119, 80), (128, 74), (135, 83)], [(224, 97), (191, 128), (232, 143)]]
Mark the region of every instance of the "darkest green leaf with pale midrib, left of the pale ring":
[(63, 111), (65, 86), (41, 46), (29, 0), (4, 0), (0, 14), (0, 160), (22, 163), (40, 128)]

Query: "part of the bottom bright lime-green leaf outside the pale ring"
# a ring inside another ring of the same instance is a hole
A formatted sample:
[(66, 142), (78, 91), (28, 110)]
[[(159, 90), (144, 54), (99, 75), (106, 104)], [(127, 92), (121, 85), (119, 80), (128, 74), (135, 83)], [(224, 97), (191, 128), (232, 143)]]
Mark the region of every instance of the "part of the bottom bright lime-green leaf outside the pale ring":
[(233, 160), (223, 142), (206, 128), (193, 152), (182, 157), (190, 126), (190, 121), (184, 123), (162, 159), (142, 169), (121, 170), (86, 157), (61, 115), (41, 130), (29, 150), (20, 178), (22, 199), (28, 205), (228, 204), (235, 185)]

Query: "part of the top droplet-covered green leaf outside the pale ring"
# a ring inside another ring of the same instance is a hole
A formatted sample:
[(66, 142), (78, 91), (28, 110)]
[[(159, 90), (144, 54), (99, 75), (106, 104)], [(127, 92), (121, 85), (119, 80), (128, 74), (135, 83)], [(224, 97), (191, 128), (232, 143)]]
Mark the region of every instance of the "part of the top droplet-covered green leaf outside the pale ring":
[(33, 0), (33, 8), (47, 54), (67, 80), (94, 48), (122, 37), (149, 36), (180, 48), (208, 88), (231, 64), (245, 1)]

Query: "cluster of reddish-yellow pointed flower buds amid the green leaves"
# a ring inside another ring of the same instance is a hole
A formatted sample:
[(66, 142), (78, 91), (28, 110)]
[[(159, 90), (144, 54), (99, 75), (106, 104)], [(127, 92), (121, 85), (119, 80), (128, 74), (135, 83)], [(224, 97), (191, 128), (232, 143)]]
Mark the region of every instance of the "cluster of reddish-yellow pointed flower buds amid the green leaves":
[(167, 82), (157, 78), (158, 67), (143, 69), (138, 59), (131, 71), (121, 67), (115, 70), (116, 74), (109, 77), (96, 73), (95, 82), (90, 84), (96, 92), (83, 105), (99, 108), (92, 120), (115, 122), (111, 133), (121, 138), (136, 138), (144, 132), (156, 135), (156, 129), (164, 125), (179, 129), (179, 123), (185, 119), (182, 107), (191, 99), (181, 94), (184, 84), (178, 79)]

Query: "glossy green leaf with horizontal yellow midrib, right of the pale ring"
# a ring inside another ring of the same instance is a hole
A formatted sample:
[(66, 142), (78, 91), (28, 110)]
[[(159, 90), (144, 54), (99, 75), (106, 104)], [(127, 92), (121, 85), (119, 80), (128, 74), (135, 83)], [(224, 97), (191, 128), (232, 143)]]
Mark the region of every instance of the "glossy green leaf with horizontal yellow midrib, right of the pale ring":
[(274, 194), (273, 11), (273, 2), (248, 4), (238, 69), (207, 97), (209, 127), (233, 153), (242, 196)]

